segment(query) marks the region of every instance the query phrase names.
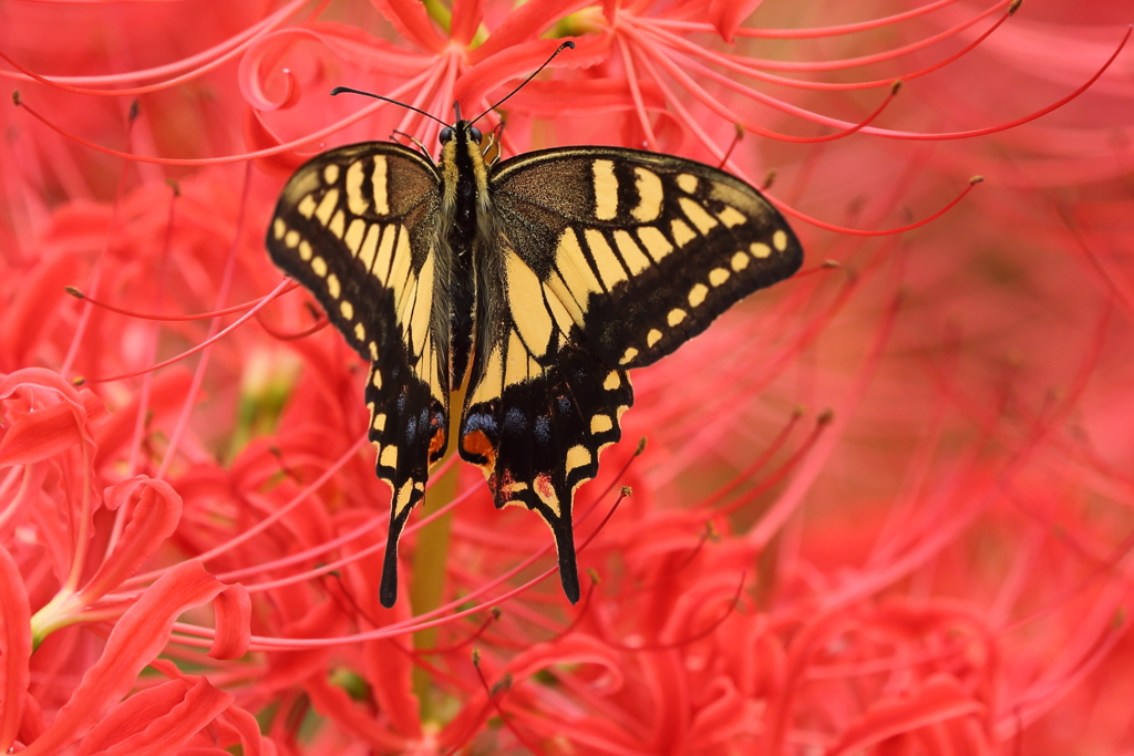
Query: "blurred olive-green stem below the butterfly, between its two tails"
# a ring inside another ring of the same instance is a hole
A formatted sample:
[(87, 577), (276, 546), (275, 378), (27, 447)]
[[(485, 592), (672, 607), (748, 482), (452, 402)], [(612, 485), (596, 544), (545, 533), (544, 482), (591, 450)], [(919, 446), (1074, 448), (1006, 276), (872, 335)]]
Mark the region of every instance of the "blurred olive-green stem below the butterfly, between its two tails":
[[(450, 407), (464, 406), (464, 393), (455, 392), (451, 397)], [(460, 413), (452, 413), (454, 417), (449, 422), (449, 451), (441, 460), (443, 465), (449, 457), (456, 453), (457, 439), (460, 438), (458, 431), (460, 426)], [(454, 465), (449, 470), (432, 482), (425, 494), (425, 506), (440, 508), (452, 501), (457, 495), (457, 478), (460, 474), (460, 465)], [(446, 512), (421, 530), (417, 532), (417, 546), (414, 551), (414, 571), (409, 584), (409, 605), (413, 606), (414, 614), (431, 612), (441, 605), (445, 598), (446, 564), (449, 559), (449, 534), (452, 526), (452, 511)], [(434, 648), (437, 646), (437, 628), (425, 628), (414, 634), (414, 648)], [(420, 666), (414, 668), (413, 676), (414, 694), (417, 696), (421, 706), (421, 717), (423, 722), (429, 722), (434, 716), (434, 700), (432, 680), (429, 672)]]

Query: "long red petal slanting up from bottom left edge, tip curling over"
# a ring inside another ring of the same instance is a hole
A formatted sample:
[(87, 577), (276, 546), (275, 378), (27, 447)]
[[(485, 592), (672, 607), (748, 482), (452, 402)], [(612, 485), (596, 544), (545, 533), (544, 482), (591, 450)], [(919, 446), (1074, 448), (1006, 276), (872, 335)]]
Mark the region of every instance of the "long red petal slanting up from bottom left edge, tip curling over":
[(83, 676), (46, 732), (24, 753), (54, 754), (81, 738), (126, 695), (138, 672), (166, 647), (178, 614), (210, 601), (225, 587), (196, 561), (183, 562), (158, 578), (126, 610), (110, 632), (102, 656)]

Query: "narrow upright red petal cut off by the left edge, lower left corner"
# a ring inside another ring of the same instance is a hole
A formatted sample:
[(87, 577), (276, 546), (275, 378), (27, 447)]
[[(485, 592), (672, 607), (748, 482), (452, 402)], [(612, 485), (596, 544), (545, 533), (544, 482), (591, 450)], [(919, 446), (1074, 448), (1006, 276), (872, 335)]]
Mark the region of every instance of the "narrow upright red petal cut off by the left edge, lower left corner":
[(32, 614), (16, 561), (0, 546), (0, 750), (19, 732), (27, 700)]

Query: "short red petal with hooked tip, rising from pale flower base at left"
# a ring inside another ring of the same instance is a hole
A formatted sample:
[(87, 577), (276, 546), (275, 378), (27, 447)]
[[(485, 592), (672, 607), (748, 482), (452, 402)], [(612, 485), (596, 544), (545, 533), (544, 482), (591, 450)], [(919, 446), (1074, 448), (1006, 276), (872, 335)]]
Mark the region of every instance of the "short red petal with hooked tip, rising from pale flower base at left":
[(138, 475), (107, 489), (108, 509), (136, 501), (122, 537), (110, 558), (79, 591), (84, 605), (91, 605), (134, 575), (145, 560), (177, 529), (181, 519), (181, 498), (168, 483)]

